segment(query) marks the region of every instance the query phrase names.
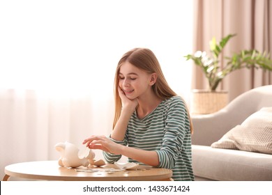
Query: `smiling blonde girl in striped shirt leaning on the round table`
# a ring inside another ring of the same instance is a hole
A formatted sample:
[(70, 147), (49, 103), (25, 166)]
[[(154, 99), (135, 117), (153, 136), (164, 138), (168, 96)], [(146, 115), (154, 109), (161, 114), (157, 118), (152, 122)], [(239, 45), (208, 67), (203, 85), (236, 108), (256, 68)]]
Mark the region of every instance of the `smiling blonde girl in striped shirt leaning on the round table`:
[(124, 54), (114, 82), (113, 131), (83, 144), (103, 150), (108, 163), (124, 155), (129, 162), (172, 169), (174, 180), (194, 180), (188, 109), (168, 86), (153, 52), (135, 48)]

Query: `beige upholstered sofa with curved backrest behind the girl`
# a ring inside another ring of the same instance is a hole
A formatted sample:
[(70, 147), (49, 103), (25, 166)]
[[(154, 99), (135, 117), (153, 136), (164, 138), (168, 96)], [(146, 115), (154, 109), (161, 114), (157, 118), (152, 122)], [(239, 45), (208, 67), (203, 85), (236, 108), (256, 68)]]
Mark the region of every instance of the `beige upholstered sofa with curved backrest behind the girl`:
[[(270, 113), (264, 112), (264, 107), (270, 107)], [(192, 116), (195, 180), (272, 180), (272, 117), (262, 116), (271, 114), (271, 109), (272, 85), (247, 91), (214, 114)], [(266, 123), (262, 126), (263, 118)], [(250, 135), (251, 132), (255, 134)], [(241, 139), (243, 136), (245, 139)], [(243, 142), (248, 141), (247, 136), (259, 142), (265, 140), (266, 145), (255, 149), (255, 142), (248, 146)], [(240, 140), (236, 141), (238, 138)], [(252, 148), (254, 150), (250, 151)]]

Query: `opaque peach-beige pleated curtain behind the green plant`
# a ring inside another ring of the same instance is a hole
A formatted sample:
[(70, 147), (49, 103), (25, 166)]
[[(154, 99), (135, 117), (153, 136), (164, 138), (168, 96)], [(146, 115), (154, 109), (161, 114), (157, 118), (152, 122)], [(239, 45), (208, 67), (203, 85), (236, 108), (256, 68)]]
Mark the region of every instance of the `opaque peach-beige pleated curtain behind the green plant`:
[[(270, 0), (195, 0), (193, 51), (209, 51), (209, 40), (236, 33), (224, 55), (241, 49), (272, 52), (272, 2)], [(223, 59), (221, 59), (223, 61)], [(272, 84), (272, 73), (242, 69), (223, 79), (218, 89), (229, 91), (229, 100), (257, 86)], [(194, 66), (192, 88), (206, 88), (201, 70)]]

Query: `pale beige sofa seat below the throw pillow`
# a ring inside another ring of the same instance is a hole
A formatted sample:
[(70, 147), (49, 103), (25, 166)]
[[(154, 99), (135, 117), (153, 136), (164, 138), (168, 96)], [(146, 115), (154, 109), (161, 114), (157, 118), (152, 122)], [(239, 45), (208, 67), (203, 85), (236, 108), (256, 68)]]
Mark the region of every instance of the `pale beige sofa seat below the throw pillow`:
[(223, 181), (272, 180), (272, 155), (192, 145), (195, 176)]

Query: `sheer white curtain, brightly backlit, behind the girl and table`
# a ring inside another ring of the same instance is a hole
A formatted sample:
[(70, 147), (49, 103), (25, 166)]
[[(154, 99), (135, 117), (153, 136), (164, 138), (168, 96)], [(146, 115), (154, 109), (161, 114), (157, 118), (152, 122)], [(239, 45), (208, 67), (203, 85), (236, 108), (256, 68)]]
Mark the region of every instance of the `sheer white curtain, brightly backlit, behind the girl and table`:
[[(148, 47), (188, 99), (190, 1), (1, 1), (0, 176), (16, 162), (58, 159), (54, 145), (109, 134), (121, 55)], [(97, 158), (102, 157), (96, 151)]]

